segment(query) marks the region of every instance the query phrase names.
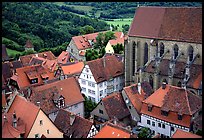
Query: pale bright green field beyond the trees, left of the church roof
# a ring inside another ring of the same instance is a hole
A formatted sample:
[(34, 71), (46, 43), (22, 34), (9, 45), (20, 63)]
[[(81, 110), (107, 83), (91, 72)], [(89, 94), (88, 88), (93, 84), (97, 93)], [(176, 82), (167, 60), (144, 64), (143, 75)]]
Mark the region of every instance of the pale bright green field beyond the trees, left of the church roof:
[(114, 26), (119, 25), (118, 31), (122, 31), (122, 25), (128, 24), (130, 25), (132, 23), (133, 18), (124, 18), (124, 19), (114, 19), (114, 21), (106, 21), (109, 25), (113, 24)]

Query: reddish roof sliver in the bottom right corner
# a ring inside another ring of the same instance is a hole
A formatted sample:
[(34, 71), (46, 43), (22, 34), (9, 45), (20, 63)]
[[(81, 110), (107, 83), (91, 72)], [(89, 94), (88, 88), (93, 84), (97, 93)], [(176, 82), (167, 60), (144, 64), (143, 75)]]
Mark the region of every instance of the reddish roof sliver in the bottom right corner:
[(202, 137), (191, 132), (186, 132), (181, 129), (177, 129), (176, 132), (172, 135), (172, 138), (202, 138)]

